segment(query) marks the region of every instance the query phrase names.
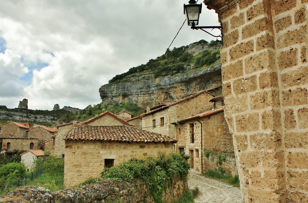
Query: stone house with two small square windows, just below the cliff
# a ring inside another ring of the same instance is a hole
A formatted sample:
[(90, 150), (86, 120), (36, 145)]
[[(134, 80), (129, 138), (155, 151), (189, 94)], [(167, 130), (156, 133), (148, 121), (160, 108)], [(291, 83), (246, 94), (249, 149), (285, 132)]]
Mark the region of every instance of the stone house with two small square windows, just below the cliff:
[(174, 125), (170, 124), (212, 109), (213, 104), (209, 100), (216, 96), (217, 92), (221, 94), (221, 86), (199, 91), (184, 99), (163, 102), (148, 108), (146, 113), (140, 115), (142, 129), (174, 137), (176, 130)]

